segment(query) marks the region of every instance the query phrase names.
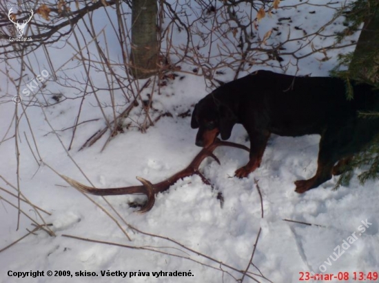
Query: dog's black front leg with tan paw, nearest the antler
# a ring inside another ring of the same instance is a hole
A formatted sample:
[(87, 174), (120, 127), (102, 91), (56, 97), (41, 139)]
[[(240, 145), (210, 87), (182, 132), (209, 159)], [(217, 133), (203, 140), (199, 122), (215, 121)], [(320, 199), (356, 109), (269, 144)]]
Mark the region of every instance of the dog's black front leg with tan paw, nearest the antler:
[(238, 170), (236, 170), (235, 176), (238, 178), (247, 177), (248, 174), (256, 170), (260, 166), (263, 153), (267, 146), (269, 139), (269, 131), (247, 131), (250, 138), (250, 154), (249, 162)]

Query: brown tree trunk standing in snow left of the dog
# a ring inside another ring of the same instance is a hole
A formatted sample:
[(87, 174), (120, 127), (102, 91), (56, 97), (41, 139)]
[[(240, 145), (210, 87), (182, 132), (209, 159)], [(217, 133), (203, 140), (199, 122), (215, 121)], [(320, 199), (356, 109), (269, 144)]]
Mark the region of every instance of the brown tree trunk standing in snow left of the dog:
[(147, 78), (158, 69), (156, 0), (132, 2), (132, 47), (130, 59), (134, 78)]

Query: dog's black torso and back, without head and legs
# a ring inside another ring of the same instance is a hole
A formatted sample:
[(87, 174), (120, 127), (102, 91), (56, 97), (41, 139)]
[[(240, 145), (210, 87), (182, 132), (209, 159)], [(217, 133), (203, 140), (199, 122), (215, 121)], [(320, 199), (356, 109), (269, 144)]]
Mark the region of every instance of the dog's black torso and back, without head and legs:
[[(368, 84), (352, 82), (354, 99), (347, 100), (340, 78), (294, 77), (256, 71), (219, 87), (214, 94), (228, 104), (238, 101), (238, 113), (254, 113), (259, 124), (277, 135), (321, 134), (327, 124), (346, 124), (358, 111), (379, 111), (379, 95)], [(241, 115), (241, 124), (254, 122)], [(256, 123), (256, 122), (254, 122)]]

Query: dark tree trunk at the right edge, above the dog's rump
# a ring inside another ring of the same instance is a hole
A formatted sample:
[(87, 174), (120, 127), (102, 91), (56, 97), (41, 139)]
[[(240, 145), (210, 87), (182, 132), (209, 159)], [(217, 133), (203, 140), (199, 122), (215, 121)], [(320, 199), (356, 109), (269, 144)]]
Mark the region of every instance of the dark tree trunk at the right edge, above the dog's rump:
[(367, 18), (349, 65), (358, 80), (379, 82), (379, 10), (367, 9)]

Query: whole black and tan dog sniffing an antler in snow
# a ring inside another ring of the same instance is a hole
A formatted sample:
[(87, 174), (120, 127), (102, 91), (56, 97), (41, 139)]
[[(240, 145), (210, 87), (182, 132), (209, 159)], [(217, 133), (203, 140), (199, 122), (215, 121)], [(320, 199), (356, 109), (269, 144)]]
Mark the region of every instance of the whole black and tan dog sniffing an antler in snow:
[(198, 128), (196, 145), (209, 146), (219, 133), (228, 139), (234, 124), (242, 124), (251, 144), (249, 162), (236, 170), (242, 178), (260, 166), (271, 133), (321, 135), (315, 176), (295, 182), (296, 192), (306, 192), (340, 174), (342, 164), (379, 133), (379, 119), (358, 117), (358, 111), (379, 111), (379, 91), (368, 84), (352, 85), (354, 100), (347, 100), (346, 84), (339, 78), (256, 71), (196, 104), (191, 121)]

